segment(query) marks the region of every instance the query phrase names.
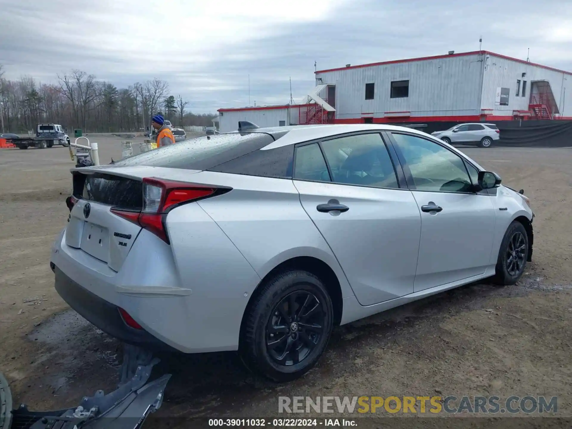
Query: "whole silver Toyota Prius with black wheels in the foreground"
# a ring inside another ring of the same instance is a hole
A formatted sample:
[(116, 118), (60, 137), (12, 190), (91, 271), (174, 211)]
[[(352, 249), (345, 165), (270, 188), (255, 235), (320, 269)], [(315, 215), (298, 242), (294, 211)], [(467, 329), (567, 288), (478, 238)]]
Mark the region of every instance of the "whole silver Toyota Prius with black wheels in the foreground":
[(308, 371), (334, 325), (515, 284), (532, 257), (522, 191), (398, 126), (243, 129), (72, 174), (59, 295), (127, 343), (238, 350), (273, 380)]

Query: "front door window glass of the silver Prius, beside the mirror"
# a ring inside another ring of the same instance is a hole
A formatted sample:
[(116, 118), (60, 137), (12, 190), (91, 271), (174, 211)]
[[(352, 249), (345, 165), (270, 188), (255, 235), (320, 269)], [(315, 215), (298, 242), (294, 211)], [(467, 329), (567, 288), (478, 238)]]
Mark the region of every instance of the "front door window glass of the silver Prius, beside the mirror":
[(471, 192), (463, 160), (443, 146), (417, 136), (393, 134), (415, 188), (431, 192)]

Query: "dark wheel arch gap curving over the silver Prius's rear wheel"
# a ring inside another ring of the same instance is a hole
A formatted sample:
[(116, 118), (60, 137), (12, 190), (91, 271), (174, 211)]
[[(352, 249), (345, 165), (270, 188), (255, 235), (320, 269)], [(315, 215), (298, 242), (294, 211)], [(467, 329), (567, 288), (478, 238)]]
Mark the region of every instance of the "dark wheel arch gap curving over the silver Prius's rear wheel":
[(259, 284), (256, 285), (256, 288), (251, 293), (247, 306), (244, 309), (243, 319), (240, 323), (240, 337), (243, 337), (245, 320), (248, 317), (253, 302), (263, 289), (263, 285), (268, 281), (268, 279), (271, 279), (278, 273), (294, 269), (308, 271), (319, 277), (319, 279), (324, 282), (324, 286), (332, 300), (333, 323), (334, 325), (340, 324), (341, 315), (343, 313), (343, 293), (341, 291), (340, 280), (338, 279), (335, 271), (327, 263), (315, 256), (295, 256), (277, 264), (276, 267), (272, 268), (266, 275), (264, 275)]

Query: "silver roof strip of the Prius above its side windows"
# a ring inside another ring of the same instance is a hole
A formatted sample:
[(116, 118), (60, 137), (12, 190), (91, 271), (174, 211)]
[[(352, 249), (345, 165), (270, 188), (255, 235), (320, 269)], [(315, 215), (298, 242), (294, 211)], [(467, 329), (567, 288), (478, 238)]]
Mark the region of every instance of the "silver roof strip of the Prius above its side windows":
[(276, 138), (274, 142), (261, 150), (281, 148), (282, 146), (294, 145), (304, 141), (319, 138), (337, 136), (339, 134), (355, 133), (360, 131), (404, 131), (408, 133), (427, 136), (428, 134), (408, 128), (406, 126), (386, 124), (335, 124), (335, 125), (290, 125), (268, 128), (255, 128), (245, 130), (243, 133), (266, 133)]

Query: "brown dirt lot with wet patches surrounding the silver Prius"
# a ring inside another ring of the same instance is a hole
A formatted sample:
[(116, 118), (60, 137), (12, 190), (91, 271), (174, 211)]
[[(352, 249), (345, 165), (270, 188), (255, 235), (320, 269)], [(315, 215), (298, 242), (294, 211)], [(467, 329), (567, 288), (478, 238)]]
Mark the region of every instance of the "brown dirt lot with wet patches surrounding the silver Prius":
[[(121, 138), (96, 141), (102, 163), (120, 158)], [(248, 374), (235, 353), (162, 356), (157, 375), (174, 376), (157, 415), (193, 427), (197, 416), (276, 416), (278, 396), (546, 395), (572, 416), (572, 149), (462, 150), (531, 198), (534, 261), (518, 285), (471, 284), (339, 327), (319, 365), (289, 384)], [(49, 249), (72, 166), (60, 146), (0, 150), (0, 371), (33, 409), (113, 390), (121, 362), (120, 344), (53, 288)]]

